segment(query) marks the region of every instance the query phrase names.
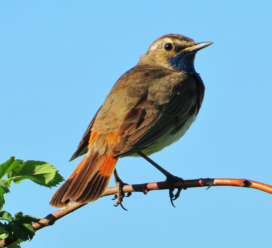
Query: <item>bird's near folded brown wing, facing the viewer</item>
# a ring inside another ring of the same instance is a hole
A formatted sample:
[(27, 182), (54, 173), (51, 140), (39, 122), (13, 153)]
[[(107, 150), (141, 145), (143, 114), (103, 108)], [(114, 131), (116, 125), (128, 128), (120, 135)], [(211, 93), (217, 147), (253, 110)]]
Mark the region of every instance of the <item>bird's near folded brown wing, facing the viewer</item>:
[(198, 111), (198, 97), (197, 83), (189, 75), (166, 75), (151, 84), (125, 115), (117, 131), (118, 143), (112, 155), (135, 154), (165, 134), (178, 132)]

